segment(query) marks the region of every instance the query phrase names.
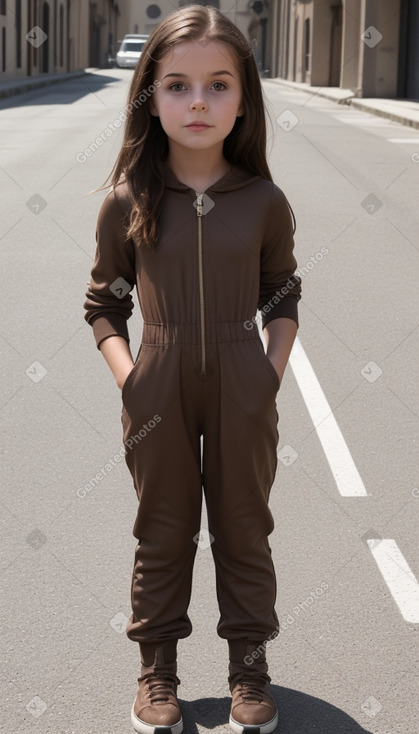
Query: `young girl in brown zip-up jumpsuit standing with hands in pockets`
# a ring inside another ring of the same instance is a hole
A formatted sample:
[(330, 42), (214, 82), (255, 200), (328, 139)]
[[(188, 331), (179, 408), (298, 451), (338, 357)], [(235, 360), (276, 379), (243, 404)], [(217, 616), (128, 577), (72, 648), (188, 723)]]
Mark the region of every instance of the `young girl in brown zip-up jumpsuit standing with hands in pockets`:
[[(261, 733), (277, 725), (265, 659), (279, 629), (268, 500), (276, 395), (298, 328), (301, 281), (292, 210), (272, 182), (265, 148), (262, 89), (244, 36), (212, 7), (172, 13), (133, 76), (85, 302), (122, 389), (139, 501), (127, 635), (140, 647), (131, 720), (144, 734), (182, 731), (176, 650), (192, 632), (202, 489), (217, 633), (229, 648), (230, 725)], [(134, 286), (144, 320), (135, 362), (127, 331)]]

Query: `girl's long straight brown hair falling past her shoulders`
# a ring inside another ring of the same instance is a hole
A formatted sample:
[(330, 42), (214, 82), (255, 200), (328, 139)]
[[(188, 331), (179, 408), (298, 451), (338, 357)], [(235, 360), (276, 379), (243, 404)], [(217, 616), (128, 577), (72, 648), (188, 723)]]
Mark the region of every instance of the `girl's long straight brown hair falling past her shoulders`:
[[(226, 137), (223, 155), (262, 178), (272, 181), (266, 160), (263, 91), (253, 49), (237, 26), (210, 6), (189, 5), (167, 16), (152, 31), (135, 68), (128, 94), (124, 139), (109, 174), (113, 186), (126, 181), (132, 208), (127, 237), (152, 247), (158, 238), (158, 218), (164, 194), (168, 139), (159, 117), (150, 112), (150, 97), (160, 82), (156, 65), (178, 43), (218, 41), (229, 46), (237, 63), (244, 114)], [(106, 182), (104, 186), (106, 187)], [(292, 211), (292, 210), (291, 210)]]

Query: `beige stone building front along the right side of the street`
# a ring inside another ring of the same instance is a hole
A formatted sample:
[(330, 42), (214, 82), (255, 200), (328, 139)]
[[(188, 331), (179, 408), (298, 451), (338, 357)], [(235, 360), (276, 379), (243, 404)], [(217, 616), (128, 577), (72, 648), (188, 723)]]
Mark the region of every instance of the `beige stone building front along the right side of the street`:
[(264, 0), (269, 75), (419, 99), (419, 0)]

